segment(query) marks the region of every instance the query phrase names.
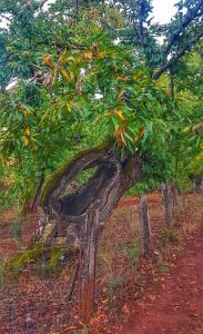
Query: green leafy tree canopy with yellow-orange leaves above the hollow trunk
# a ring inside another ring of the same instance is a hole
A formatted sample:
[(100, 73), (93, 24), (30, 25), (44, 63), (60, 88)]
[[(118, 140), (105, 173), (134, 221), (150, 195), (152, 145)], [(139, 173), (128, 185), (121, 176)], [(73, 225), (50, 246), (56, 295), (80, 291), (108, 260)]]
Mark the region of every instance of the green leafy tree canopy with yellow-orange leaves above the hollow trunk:
[(168, 26), (153, 23), (146, 0), (44, 2), (0, 2), (0, 143), (21, 185), (108, 135), (150, 174), (170, 169), (176, 147), (200, 154), (202, 60), (199, 48), (185, 55), (201, 37), (201, 1), (180, 1)]

